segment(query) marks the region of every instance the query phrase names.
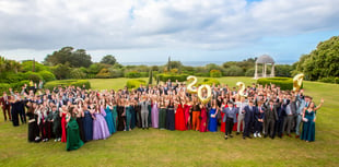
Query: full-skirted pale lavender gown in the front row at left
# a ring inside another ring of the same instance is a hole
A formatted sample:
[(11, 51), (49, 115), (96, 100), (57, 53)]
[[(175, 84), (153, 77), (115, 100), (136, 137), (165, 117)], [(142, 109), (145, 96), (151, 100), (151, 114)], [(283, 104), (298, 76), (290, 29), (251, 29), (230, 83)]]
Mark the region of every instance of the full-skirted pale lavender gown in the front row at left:
[(95, 112), (93, 120), (93, 140), (107, 139), (109, 136), (109, 130), (105, 120), (106, 112), (101, 109), (101, 112)]

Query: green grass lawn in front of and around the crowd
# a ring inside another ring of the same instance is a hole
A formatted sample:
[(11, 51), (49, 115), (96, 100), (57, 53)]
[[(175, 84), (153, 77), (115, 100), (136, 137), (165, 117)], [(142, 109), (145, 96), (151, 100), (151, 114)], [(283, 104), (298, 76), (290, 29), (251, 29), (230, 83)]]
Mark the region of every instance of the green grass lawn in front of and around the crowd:
[[(145, 79), (147, 80), (147, 79)], [(222, 77), (233, 86), (249, 77)], [(93, 88), (121, 88), (126, 79), (91, 80)], [(338, 166), (339, 87), (304, 82), (315, 102), (325, 98), (317, 112), (316, 141), (253, 139), (225, 141), (221, 132), (133, 130), (107, 140), (92, 141), (66, 152), (63, 143), (27, 143), (27, 127), (13, 128), (0, 116), (0, 166)]]

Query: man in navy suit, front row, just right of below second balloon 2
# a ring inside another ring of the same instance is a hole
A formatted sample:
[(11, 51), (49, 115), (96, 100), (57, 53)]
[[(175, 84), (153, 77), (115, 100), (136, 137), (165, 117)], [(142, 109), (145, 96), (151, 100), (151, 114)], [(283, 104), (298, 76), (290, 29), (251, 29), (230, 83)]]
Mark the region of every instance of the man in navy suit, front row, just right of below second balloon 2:
[(244, 108), (243, 112), (245, 114), (244, 116), (244, 121), (245, 121), (245, 128), (244, 128), (244, 133), (243, 133), (243, 139), (245, 140), (246, 138), (252, 139), (249, 135), (250, 129), (254, 123), (254, 114), (257, 110), (257, 107), (253, 105), (254, 102), (250, 99), (248, 102), (248, 105)]

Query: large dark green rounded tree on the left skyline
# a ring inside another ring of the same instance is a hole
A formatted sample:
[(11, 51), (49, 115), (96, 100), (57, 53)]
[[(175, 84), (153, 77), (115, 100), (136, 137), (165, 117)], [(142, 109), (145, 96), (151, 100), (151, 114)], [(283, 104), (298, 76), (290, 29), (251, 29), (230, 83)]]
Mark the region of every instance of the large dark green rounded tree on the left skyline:
[(73, 51), (72, 47), (63, 47), (58, 51), (54, 51), (52, 55), (48, 55), (45, 58), (44, 63), (47, 65), (56, 65), (59, 63), (65, 64), (66, 62), (70, 63), (70, 67), (80, 68), (80, 67), (90, 67), (92, 64), (92, 58), (86, 53), (84, 49), (78, 49)]

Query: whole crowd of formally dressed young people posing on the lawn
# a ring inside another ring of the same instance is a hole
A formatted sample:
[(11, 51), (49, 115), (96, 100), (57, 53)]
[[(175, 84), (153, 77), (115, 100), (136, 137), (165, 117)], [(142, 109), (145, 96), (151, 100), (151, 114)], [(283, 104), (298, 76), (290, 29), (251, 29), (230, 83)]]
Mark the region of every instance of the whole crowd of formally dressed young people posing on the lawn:
[(21, 93), (11, 88), (10, 95), (4, 92), (0, 105), (4, 120), (9, 118), (14, 127), (20, 120), (27, 121), (28, 142), (54, 139), (67, 143), (67, 151), (136, 128), (221, 131), (225, 140), (233, 138), (233, 131), (242, 133), (244, 140), (284, 134), (292, 138), (295, 132), (296, 139), (315, 141), (316, 112), (324, 99), (316, 106), (303, 90), (281, 91), (273, 84), (252, 84), (242, 96), (236, 87), (227, 85), (212, 85), (211, 90), (211, 100), (201, 104), (196, 94), (187, 92), (185, 83), (171, 80), (130, 91), (93, 91), (85, 86), (49, 91), (24, 85)]

